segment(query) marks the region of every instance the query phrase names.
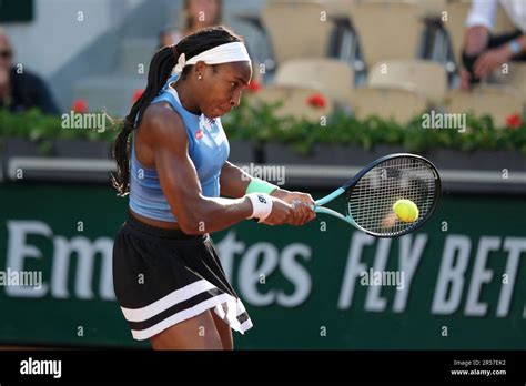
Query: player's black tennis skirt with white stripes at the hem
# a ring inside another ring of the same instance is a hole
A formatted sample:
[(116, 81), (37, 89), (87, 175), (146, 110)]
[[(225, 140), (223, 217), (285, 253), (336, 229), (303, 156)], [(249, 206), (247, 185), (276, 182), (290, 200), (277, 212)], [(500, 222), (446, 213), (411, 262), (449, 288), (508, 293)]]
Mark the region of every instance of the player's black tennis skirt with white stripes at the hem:
[(113, 286), (139, 341), (206, 309), (242, 334), (252, 327), (209, 234), (159, 228), (129, 213), (113, 244)]

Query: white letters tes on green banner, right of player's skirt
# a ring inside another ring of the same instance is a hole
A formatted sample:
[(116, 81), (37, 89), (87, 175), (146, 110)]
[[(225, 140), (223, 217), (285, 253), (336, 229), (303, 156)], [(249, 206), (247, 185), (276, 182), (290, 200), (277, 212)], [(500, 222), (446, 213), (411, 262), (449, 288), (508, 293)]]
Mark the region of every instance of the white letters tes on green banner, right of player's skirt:
[[(245, 251), (245, 244), (236, 240), (235, 231), (231, 231), (218, 243), (218, 253), (229, 281), (233, 277), (234, 257), (240, 256), (240, 294), (251, 305), (269, 306), (275, 303), (283, 307), (295, 307), (311, 294), (311, 275), (297, 261), (299, 256), (311, 258), (312, 251), (306, 244), (289, 244), (281, 254), (271, 243), (255, 243)], [(291, 294), (261, 284), (262, 275), (269, 277), (277, 268), (292, 283), (294, 291)]]

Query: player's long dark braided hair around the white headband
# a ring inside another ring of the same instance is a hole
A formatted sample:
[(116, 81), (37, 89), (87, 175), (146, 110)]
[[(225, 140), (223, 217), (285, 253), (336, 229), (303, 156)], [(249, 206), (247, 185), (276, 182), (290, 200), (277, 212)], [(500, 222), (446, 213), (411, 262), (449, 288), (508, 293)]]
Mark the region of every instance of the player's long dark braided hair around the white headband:
[[(117, 189), (119, 196), (125, 196), (130, 192), (130, 133), (140, 126), (144, 111), (159, 91), (166, 83), (176, 60), (184, 53), (186, 60), (214, 47), (242, 42), (243, 39), (223, 26), (210, 27), (189, 34), (175, 45), (161, 48), (152, 58), (148, 71), (146, 89), (130, 110), (122, 122), (119, 135), (113, 143), (113, 158), (117, 161), (117, 176), (112, 175), (111, 182)], [(185, 79), (192, 65), (186, 65), (181, 74)]]

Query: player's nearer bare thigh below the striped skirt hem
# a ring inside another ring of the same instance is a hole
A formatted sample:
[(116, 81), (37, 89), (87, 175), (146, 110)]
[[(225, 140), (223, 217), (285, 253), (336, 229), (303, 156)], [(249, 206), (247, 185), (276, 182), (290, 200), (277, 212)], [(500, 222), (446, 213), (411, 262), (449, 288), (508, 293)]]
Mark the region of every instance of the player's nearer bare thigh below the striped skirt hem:
[(206, 309), (150, 338), (153, 349), (222, 349), (212, 312)]

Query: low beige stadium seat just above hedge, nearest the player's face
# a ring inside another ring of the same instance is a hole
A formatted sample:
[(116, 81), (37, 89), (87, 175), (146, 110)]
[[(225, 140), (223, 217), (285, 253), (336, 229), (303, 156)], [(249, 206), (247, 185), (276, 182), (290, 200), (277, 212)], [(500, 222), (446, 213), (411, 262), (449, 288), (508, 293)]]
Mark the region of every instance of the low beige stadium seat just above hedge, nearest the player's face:
[[(323, 106), (313, 106), (308, 101), (313, 96), (324, 100)], [(282, 102), (276, 110), (277, 116), (293, 116), (308, 121), (320, 121), (322, 116), (328, 116), (334, 110), (334, 103), (328, 95), (316, 89), (300, 88), (292, 85), (269, 85), (254, 95), (247, 95), (249, 103), (257, 104)]]

